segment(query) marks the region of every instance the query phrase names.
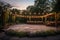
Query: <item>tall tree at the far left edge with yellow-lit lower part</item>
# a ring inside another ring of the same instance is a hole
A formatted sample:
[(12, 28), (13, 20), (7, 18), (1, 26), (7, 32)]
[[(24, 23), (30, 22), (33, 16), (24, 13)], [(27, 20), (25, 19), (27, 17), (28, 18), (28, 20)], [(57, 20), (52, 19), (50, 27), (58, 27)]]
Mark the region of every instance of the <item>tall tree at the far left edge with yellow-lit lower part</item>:
[(8, 21), (9, 17), (9, 8), (11, 7), (10, 4), (5, 2), (0, 2), (0, 13), (1, 13), (1, 24), (4, 26), (6, 22)]

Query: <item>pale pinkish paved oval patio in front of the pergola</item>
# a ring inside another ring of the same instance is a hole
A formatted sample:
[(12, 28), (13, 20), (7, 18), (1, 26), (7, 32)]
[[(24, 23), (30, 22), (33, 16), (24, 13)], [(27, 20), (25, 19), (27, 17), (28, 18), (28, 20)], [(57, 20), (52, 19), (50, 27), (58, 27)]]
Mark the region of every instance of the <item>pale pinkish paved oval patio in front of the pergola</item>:
[(49, 27), (45, 25), (32, 25), (32, 24), (18, 24), (10, 26), (7, 30), (12, 29), (15, 31), (27, 31), (27, 32), (36, 32), (36, 31), (46, 31), (46, 30), (56, 30), (56, 27)]

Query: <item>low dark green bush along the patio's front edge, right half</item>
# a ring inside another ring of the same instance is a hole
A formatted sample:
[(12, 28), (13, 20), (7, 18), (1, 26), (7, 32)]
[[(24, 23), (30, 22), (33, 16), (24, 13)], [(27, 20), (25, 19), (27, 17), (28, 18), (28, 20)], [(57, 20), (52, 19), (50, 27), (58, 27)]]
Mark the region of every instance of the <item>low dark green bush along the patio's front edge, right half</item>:
[(54, 30), (43, 31), (43, 32), (37, 31), (36, 33), (31, 34), (30, 37), (47, 37), (47, 36), (53, 36), (53, 35), (56, 35), (56, 31)]

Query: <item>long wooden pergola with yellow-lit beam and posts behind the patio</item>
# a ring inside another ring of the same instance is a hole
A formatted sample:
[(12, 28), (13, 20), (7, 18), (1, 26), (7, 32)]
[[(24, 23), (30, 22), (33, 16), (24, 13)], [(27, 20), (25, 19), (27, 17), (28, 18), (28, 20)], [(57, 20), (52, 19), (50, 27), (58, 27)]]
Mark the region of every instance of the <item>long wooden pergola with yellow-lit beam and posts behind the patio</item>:
[[(50, 23), (55, 23), (55, 25), (57, 24), (57, 14), (55, 12), (54, 13), (49, 13), (49, 14), (47, 13), (44, 16), (37, 16), (37, 15), (35, 15), (35, 16), (34, 15), (17, 15), (17, 14), (15, 16), (18, 16), (20, 18), (26, 18), (27, 22), (29, 22), (29, 23), (39, 23), (39, 22), (42, 23), (43, 20), (44, 20), (43, 18), (45, 18), (45, 23), (47, 23), (47, 18), (51, 17), (51, 16), (52, 17), (54, 16), (56, 20), (53, 21), (53, 22), (52, 21), (49, 21), (49, 22)], [(35, 18), (36, 19), (42, 19), (42, 20), (41, 21), (40, 20), (39, 21), (36, 21), (36, 20), (33, 21), (32, 19), (35, 19)]]

